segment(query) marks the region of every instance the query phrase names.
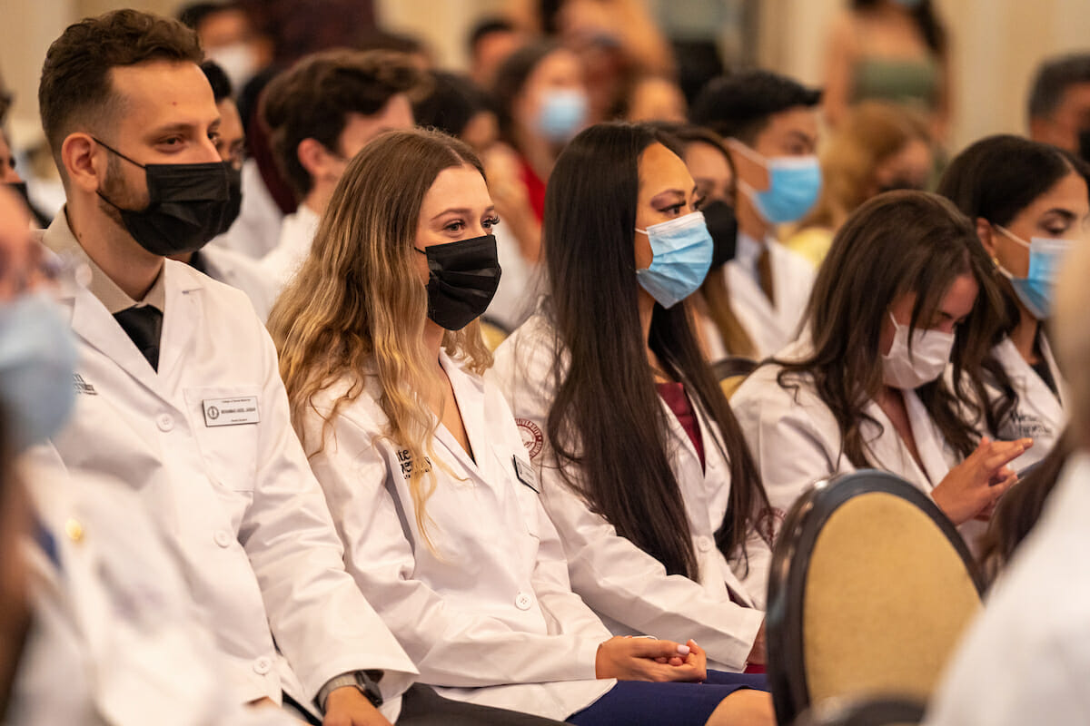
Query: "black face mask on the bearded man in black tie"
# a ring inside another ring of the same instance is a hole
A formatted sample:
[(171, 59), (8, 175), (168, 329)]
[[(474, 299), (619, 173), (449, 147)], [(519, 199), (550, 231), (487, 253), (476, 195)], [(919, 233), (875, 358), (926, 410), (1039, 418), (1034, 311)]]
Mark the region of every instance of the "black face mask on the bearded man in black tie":
[(98, 196), (121, 212), (129, 234), (147, 251), (164, 257), (194, 253), (230, 226), (230, 164), (141, 164), (97, 138), (95, 141), (144, 170), (146, 209), (122, 209), (101, 192)]

